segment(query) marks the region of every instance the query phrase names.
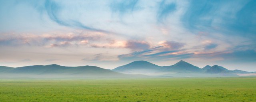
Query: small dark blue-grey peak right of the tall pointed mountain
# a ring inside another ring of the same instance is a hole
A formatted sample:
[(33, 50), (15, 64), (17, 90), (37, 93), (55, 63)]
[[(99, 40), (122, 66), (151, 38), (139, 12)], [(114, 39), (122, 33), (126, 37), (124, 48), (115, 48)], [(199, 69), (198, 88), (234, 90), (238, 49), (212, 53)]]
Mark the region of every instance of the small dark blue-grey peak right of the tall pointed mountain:
[(211, 73), (211, 74), (218, 74), (218, 73), (232, 73), (228, 69), (225, 69), (224, 67), (214, 65), (210, 69), (206, 71), (206, 73)]

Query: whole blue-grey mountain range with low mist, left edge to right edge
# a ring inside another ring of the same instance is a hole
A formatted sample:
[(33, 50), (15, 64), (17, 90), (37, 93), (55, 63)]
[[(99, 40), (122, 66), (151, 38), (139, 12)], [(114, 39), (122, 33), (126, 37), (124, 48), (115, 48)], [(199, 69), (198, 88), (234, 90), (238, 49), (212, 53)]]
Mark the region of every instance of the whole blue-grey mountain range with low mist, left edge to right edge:
[[(25, 67), (0, 66), (0, 78), (6, 75), (16, 77), (30, 76), (57, 76), (57, 77), (217, 77), (238, 76), (239, 74), (252, 74), (241, 70), (228, 70), (224, 67), (214, 65), (205, 66), (202, 69), (185, 61), (170, 66), (158, 66), (147, 61), (134, 61), (127, 65), (108, 70), (96, 66), (66, 67), (60, 65), (34, 65)], [(253, 74), (254, 75), (254, 74)]]

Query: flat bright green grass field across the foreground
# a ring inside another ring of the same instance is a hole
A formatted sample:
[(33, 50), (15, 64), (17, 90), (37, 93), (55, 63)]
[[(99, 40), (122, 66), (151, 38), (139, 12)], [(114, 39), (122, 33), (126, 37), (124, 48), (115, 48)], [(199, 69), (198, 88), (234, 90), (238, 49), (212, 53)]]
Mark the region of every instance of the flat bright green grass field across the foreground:
[(0, 102), (256, 102), (256, 77), (0, 79)]

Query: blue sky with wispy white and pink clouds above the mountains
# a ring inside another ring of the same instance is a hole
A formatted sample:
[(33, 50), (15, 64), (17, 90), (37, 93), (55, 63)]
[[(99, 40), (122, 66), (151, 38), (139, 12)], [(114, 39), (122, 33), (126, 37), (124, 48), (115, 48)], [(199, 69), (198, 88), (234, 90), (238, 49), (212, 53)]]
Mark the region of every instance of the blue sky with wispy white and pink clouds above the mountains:
[(256, 0), (0, 0), (0, 65), (256, 71)]

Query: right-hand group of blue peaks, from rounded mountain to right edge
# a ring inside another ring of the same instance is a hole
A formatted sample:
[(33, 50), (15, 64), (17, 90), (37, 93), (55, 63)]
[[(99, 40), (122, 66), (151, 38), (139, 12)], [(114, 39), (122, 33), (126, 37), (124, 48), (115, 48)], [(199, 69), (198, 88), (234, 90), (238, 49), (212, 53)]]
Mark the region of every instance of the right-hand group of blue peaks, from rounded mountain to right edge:
[(202, 69), (196, 67), (183, 60), (170, 66), (158, 66), (147, 61), (134, 61), (127, 65), (123, 65), (113, 69), (119, 73), (126, 74), (143, 74), (143, 75), (169, 75), (169, 76), (212, 76), (212, 75), (225, 75), (225, 76), (237, 76), (237, 74), (248, 74), (253, 72), (241, 71), (241, 70), (228, 70), (224, 67), (214, 65), (206, 65)]

